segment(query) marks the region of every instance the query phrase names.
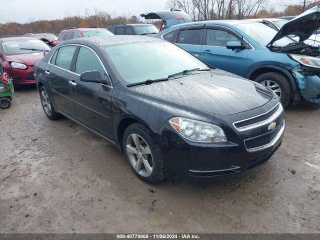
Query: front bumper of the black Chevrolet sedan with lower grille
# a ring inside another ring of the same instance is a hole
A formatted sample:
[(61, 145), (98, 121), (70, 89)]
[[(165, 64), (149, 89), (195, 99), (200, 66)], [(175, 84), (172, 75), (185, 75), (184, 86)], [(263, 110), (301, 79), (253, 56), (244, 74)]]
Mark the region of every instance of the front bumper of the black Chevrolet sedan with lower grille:
[[(165, 126), (159, 140), (167, 176), (209, 180), (244, 173), (267, 162), (282, 141), (285, 124), (283, 111), (271, 122), (277, 125), (273, 130), (268, 129), (269, 122), (243, 131), (237, 131), (235, 127), (224, 129), (229, 140), (224, 143), (188, 141), (171, 130), (169, 125)], [(271, 144), (263, 143), (266, 134), (270, 136)], [(254, 147), (256, 142), (262, 142), (265, 147)]]

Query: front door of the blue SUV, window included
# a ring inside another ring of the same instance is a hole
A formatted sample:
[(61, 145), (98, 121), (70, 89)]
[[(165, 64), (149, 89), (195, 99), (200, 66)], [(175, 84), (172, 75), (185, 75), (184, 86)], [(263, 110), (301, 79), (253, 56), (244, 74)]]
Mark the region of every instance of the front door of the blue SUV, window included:
[[(228, 41), (242, 42), (243, 49), (227, 49)], [(249, 44), (233, 30), (206, 25), (200, 58), (211, 66), (244, 76)]]

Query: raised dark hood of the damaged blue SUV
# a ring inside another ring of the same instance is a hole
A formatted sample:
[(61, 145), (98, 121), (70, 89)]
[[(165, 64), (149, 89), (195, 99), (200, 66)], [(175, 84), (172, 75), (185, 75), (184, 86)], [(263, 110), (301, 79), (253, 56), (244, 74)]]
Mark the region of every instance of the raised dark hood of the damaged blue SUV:
[(299, 37), (299, 42), (302, 42), (308, 39), (319, 26), (320, 7), (314, 6), (285, 23), (268, 45), (287, 35), (296, 35)]

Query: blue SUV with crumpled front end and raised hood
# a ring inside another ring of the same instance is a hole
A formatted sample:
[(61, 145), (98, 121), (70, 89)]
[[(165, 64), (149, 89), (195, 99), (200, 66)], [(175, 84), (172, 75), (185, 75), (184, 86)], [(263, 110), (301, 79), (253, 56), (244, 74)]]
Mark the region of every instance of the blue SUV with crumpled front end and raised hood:
[(320, 103), (320, 50), (303, 43), (320, 26), (319, 18), (320, 7), (316, 6), (279, 31), (249, 20), (210, 20), (170, 25), (156, 37), (214, 67), (268, 86), (284, 106), (300, 101)]

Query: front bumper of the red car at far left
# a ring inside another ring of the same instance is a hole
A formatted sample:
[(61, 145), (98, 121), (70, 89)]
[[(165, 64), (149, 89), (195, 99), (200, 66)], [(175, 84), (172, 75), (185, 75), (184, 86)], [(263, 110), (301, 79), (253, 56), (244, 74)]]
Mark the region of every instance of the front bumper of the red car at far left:
[(15, 69), (10, 66), (5, 68), (5, 71), (13, 78), (13, 84), (35, 83), (33, 66), (28, 66), (27, 69)]

